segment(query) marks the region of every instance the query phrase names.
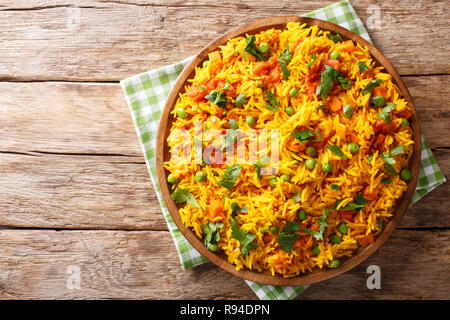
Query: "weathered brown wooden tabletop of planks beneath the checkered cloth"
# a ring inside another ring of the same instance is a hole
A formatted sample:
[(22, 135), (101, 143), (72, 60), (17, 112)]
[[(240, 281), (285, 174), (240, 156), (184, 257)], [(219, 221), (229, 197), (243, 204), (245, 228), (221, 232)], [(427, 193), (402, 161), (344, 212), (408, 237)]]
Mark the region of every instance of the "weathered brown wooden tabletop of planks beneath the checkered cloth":
[[(255, 299), (210, 263), (182, 270), (118, 82), (248, 21), (333, 2), (1, 1), (0, 298)], [(448, 1), (352, 4), (449, 177)], [(410, 208), (361, 266), (300, 299), (449, 299), (449, 190)], [(381, 290), (366, 287), (373, 264)]]

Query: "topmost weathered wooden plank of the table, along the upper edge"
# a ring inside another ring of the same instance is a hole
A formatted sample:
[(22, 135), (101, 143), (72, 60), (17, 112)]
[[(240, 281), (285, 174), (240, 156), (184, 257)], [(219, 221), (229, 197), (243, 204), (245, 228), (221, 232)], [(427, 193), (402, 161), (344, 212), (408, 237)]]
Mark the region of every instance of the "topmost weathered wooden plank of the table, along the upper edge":
[[(120, 80), (194, 55), (258, 18), (301, 15), (333, 2), (9, 0), (0, 8), (0, 78)], [(450, 73), (445, 2), (353, 4), (401, 74)]]

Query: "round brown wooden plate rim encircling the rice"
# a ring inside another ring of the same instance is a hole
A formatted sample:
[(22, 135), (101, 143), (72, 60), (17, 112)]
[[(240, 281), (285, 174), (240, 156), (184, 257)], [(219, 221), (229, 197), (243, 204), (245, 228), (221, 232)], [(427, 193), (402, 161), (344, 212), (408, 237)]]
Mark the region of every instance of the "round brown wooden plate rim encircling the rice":
[[(284, 29), (288, 22), (301, 22), (306, 23), (308, 26), (317, 25), (322, 30), (331, 31), (333, 33), (339, 33), (345, 40), (351, 39), (356, 43), (361, 44), (369, 48), (369, 51), (380, 65), (382, 65), (388, 73), (392, 75), (393, 81), (399, 87), (403, 97), (407, 100), (408, 105), (413, 111), (413, 116), (410, 121), (413, 130), (414, 148), (413, 155), (410, 160), (410, 169), (412, 172), (412, 178), (409, 181), (408, 189), (403, 194), (403, 196), (397, 201), (396, 208), (394, 210), (394, 215), (389, 223), (386, 224), (385, 228), (378, 235), (375, 242), (365, 248), (359, 248), (357, 252), (352, 257), (347, 258), (343, 261), (342, 265), (336, 269), (314, 269), (312, 272), (302, 274), (293, 278), (283, 278), (282, 276), (272, 276), (268, 271), (260, 273), (251, 270), (240, 270), (236, 271), (235, 266), (228, 263), (227, 258), (224, 253), (214, 253), (209, 251), (203, 244), (202, 239), (199, 239), (190, 229), (188, 229), (182, 222), (177, 209), (176, 204), (170, 197), (169, 186), (167, 183), (168, 172), (164, 169), (163, 162), (169, 159), (169, 149), (166, 144), (166, 139), (169, 135), (172, 121), (174, 121), (173, 116), (169, 113), (170, 110), (175, 105), (180, 93), (184, 92), (187, 79), (193, 78), (195, 74), (195, 66), (202, 63), (203, 60), (208, 58), (208, 53), (215, 51), (219, 46), (224, 45), (227, 40), (235, 38), (238, 36), (245, 36), (246, 34), (256, 34), (263, 30), (276, 28)], [(304, 285), (311, 284), (326, 279), (333, 278), (341, 273), (344, 273), (370, 257), (392, 234), (394, 229), (400, 222), (400, 219), (404, 215), (408, 205), (411, 202), (412, 195), (414, 193), (416, 183), (419, 176), (420, 169), (420, 154), (421, 154), (421, 134), (419, 127), (419, 120), (417, 118), (417, 112), (414, 108), (411, 95), (408, 92), (405, 84), (400, 78), (397, 70), (392, 66), (388, 59), (377, 49), (375, 46), (358, 36), (357, 34), (344, 29), (333, 23), (322, 21), (312, 18), (302, 18), (297, 16), (287, 16), (287, 17), (272, 17), (266, 19), (260, 19), (245, 26), (236, 28), (214, 40), (208, 44), (199, 54), (192, 60), (192, 62), (186, 66), (181, 75), (179, 76), (175, 86), (169, 94), (166, 101), (164, 111), (161, 115), (161, 121), (159, 124), (158, 135), (156, 138), (156, 165), (157, 165), (157, 175), (158, 181), (161, 187), (161, 193), (163, 199), (167, 205), (167, 208), (175, 221), (175, 224), (180, 229), (184, 237), (189, 241), (189, 243), (197, 249), (197, 251), (209, 259), (212, 263), (222, 268), (223, 270), (244, 278), (247, 280), (255, 281), (258, 283), (277, 285), (277, 286), (287, 286), (287, 285)]]

